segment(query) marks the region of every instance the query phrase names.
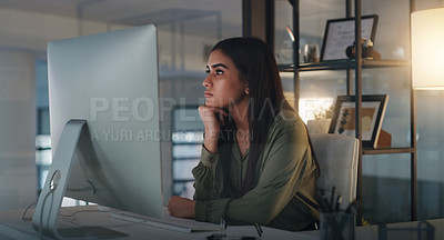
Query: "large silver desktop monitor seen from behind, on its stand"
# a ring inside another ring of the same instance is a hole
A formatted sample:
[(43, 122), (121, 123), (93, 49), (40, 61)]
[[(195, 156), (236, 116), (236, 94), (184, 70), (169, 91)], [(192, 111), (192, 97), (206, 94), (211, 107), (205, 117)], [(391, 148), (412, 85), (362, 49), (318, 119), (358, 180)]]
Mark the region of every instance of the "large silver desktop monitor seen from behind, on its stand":
[(48, 44), (53, 162), (33, 216), (57, 236), (63, 196), (160, 217), (157, 28)]

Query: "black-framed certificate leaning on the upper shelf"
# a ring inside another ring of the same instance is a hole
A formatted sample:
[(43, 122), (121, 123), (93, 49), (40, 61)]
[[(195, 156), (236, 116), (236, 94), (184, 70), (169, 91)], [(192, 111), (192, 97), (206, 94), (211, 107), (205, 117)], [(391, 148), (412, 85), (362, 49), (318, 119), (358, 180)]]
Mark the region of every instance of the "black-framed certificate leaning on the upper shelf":
[[(361, 18), (361, 36), (374, 43), (379, 17), (376, 14)], [(347, 59), (345, 49), (354, 42), (354, 18), (331, 19), (325, 26), (322, 42), (321, 61)]]

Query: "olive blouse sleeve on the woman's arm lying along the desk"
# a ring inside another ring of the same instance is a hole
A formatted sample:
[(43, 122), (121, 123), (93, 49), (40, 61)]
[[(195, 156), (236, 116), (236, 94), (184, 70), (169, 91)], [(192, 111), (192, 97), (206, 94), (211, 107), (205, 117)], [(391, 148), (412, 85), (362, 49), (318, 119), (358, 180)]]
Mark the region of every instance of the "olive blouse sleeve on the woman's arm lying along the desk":
[(281, 119), (269, 130), (256, 187), (240, 199), (196, 199), (196, 220), (218, 223), (226, 212), (228, 219), (266, 224), (284, 209), (304, 181), (315, 178), (316, 167), (305, 128), (300, 120), (292, 122), (283, 123)]

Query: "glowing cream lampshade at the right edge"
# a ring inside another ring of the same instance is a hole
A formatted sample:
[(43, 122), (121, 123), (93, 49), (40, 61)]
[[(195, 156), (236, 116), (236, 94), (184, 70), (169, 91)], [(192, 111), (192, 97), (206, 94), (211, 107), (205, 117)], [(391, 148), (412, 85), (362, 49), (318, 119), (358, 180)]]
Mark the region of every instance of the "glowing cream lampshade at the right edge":
[(412, 13), (413, 88), (444, 90), (444, 8)]

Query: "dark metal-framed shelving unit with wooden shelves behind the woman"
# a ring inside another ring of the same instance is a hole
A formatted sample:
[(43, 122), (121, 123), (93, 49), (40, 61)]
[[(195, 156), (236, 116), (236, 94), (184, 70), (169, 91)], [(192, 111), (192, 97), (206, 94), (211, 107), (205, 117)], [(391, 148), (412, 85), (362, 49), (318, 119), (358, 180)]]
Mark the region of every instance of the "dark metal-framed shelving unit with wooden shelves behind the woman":
[[(352, 2), (353, 1), (353, 2)], [(408, 67), (411, 66), (410, 60), (362, 60), (362, 49), (356, 48), (356, 57), (351, 60), (340, 60), (340, 61), (325, 61), (325, 62), (316, 62), (316, 63), (300, 63), (300, 1), (299, 0), (289, 0), (289, 2), (293, 6), (293, 31), (296, 41), (293, 42), (293, 64), (280, 64), (280, 71), (282, 72), (293, 72), (294, 80), (294, 98), (295, 98), (295, 109), (299, 107), (300, 99), (300, 72), (303, 71), (321, 71), (321, 70), (344, 70), (346, 71), (346, 94), (356, 96), (355, 102), (355, 126), (356, 126), (356, 138), (361, 142), (360, 148), (360, 158), (359, 158), (359, 172), (357, 172), (357, 199), (360, 201), (360, 206), (363, 206), (362, 199), (362, 156), (363, 154), (400, 154), (406, 153), (410, 154), (411, 159), (411, 220), (414, 221), (417, 219), (417, 210), (416, 210), (416, 117), (415, 117), (415, 93), (410, 83), (410, 99), (411, 99), (411, 108), (410, 108), (410, 117), (411, 117), (411, 146), (410, 147), (401, 147), (401, 148), (382, 148), (382, 149), (363, 149), (362, 148), (362, 70), (363, 69), (377, 69), (377, 68), (396, 68), (396, 67)], [(362, 11), (362, 1), (361, 0), (344, 0), (345, 3), (345, 17), (355, 19), (355, 42), (361, 42), (361, 11)], [(352, 16), (352, 3), (354, 3), (354, 16)], [(410, 0), (410, 11), (414, 10), (415, 1)], [(353, 71), (354, 71), (354, 80), (353, 80)], [(354, 82), (353, 82), (354, 81)], [(354, 84), (353, 84), (354, 83)], [(352, 86), (354, 86), (354, 91), (352, 90)], [(362, 218), (362, 208), (359, 211), (359, 218)]]

